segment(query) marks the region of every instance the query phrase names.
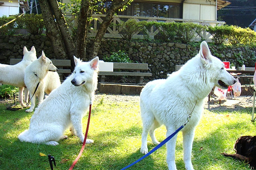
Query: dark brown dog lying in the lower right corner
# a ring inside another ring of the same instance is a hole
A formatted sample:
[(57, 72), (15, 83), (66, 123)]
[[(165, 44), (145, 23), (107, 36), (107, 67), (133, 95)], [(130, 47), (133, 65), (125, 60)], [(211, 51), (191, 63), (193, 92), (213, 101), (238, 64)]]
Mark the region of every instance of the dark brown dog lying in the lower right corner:
[(248, 164), (256, 169), (256, 136), (242, 136), (236, 140), (234, 145), (235, 154), (222, 153), (222, 155), (237, 160), (248, 162)]

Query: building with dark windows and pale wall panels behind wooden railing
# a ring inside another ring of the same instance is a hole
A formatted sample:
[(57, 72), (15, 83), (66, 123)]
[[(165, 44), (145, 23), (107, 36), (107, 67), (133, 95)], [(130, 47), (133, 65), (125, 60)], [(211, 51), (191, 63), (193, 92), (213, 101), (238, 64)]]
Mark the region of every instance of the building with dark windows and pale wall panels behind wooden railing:
[[(105, 3), (102, 8), (108, 8), (110, 3)], [(137, 21), (193, 22), (207, 27), (224, 25), (224, 21), (217, 21), (217, 10), (229, 4), (231, 3), (225, 0), (134, 0), (124, 12), (119, 12), (118, 16), (114, 16), (114, 26), (108, 28), (104, 37), (120, 38), (115, 25), (121, 20), (126, 21), (129, 18)], [(98, 20), (92, 23), (93, 29), (90, 29), (88, 33), (90, 37), (96, 35), (102, 17), (104, 17), (103, 14), (94, 14), (93, 16)], [(152, 27), (150, 38), (154, 38), (157, 33), (158, 30)], [(133, 37), (139, 38), (141, 36), (137, 34)], [(209, 40), (210, 37), (209, 33), (204, 33), (204, 39)]]

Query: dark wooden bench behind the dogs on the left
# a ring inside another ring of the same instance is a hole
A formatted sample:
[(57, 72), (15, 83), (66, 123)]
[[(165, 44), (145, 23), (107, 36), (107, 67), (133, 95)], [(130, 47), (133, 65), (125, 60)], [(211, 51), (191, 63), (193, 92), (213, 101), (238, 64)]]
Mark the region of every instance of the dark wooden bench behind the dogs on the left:
[[(10, 59), (10, 65), (14, 65), (22, 61), (22, 59)], [(58, 68), (58, 74), (60, 76), (60, 81), (63, 81), (64, 78), (64, 73), (70, 74), (71, 70), (63, 67), (68, 67), (70, 68), (71, 66), (71, 61), (70, 60), (55, 60), (52, 59), (52, 64)]]

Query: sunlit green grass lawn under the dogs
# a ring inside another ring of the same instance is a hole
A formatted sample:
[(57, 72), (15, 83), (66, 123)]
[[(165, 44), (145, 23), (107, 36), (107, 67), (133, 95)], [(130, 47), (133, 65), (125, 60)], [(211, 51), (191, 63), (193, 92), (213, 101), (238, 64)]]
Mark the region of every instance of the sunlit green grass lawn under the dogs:
[[(18, 135), (28, 129), (33, 113), (25, 109), (7, 111), (6, 102), (0, 104), (0, 170), (50, 170), (48, 157), (56, 160), (54, 170), (67, 170), (80, 152), (82, 143), (77, 137), (68, 135), (58, 146), (21, 143)], [(236, 139), (243, 135), (255, 135), (256, 127), (251, 123), (251, 107), (236, 112), (211, 112), (204, 110), (192, 150), (195, 170), (250, 170), (248, 164), (226, 158), (222, 152), (234, 153)], [(87, 117), (83, 119), (86, 131)], [(138, 101), (116, 102), (101, 95), (92, 106), (92, 117), (85, 150), (74, 167), (77, 170), (120, 170), (141, 156), (142, 122)], [(165, 139), (164, 126), (156, 130), (159, 141)], [(148, 137), (148, 148), (155, 145)], [(184, 170), (182, 160), (182, 134), (176, 144), (177, 169)], [(128, 170), (167, 170), (166, 146), (164, 145)]]

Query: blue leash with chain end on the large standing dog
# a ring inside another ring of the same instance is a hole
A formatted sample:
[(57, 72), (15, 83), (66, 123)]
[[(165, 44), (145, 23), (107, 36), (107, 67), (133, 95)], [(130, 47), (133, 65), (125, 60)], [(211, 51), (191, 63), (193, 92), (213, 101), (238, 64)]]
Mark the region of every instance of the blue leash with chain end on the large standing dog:
[[(196, 106), (196, 104), (195, 104)], [(134, 164), (140, 162), (142, 159), (146, 158), (147, 156), (149, 156), (150, 154), (152, 154), (154, 151), (158, 150), (160, 147), (162, 147), (164, 144), (166, 144), (168, 141), (170, 141), (170, 139), (172, 139), (183, 127), (186, 126), (186, 124), (188, 123), (188, 121), (190, 120), (191, 116), (192, 116), (192, 112), (194, 111), (194, 108), (195, 106), (193, 107), (191, 113), (188, 115), (187, 117), (187, 121), (181, 125), (174, 133), (172, 133), (172, 135), (168, 136), (166, 139), (164, 139), (164, 141), (162, 141), (161, 143), (159, 143), (156, 147), (154, 147), (152, 150), (150, 150), (147, 154), (145, 154), (144, 156), (142, 156), (141, 158), (139, 158), (138, 160), (136, 160), (135, 162), (133, 162), (132, 164), (122, 168), (121, 170), (125, 170), (131, 166), (133, 166)]]

